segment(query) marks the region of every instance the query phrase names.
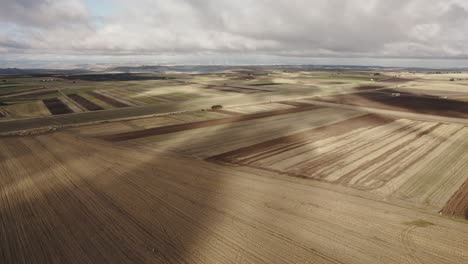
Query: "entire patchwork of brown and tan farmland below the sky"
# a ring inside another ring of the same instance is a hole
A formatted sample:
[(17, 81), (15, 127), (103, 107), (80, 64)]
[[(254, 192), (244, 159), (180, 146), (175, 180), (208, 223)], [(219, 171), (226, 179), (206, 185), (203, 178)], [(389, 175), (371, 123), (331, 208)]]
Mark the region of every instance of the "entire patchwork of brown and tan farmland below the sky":
[(468, 263), (466, 76), (7, 76), (0, 263)]

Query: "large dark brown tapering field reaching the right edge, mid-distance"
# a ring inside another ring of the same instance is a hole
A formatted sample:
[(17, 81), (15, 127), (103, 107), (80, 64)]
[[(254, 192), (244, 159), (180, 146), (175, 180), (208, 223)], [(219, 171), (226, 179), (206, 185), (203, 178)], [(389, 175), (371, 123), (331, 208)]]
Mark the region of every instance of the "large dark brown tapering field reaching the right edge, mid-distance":
[(314, 100), (429, 115), (468, 118), (467, 102), (418, 96), (408, 91), (395, 91), (395, 93), (400, 93), (400, 96), (392, 96), (391, 93), (391, 90), (387, 90), (387, 92), (361, 92), (320, 97)]

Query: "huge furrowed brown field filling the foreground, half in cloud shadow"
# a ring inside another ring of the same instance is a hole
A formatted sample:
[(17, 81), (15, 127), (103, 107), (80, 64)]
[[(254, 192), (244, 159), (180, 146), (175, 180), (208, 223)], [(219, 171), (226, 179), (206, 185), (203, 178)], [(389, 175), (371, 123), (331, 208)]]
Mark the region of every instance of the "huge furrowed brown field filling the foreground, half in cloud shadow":
[(2, 138), (0, 148), (2, 263), (468, 258), (466, 224), (363, 192), (64, 134)]

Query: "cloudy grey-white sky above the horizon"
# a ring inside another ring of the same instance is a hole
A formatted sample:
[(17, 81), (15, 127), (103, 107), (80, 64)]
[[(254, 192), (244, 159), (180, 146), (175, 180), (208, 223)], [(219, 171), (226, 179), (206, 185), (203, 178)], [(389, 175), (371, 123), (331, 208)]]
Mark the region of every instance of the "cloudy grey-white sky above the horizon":
[(466, 0), (0, 0), (0, 68), (320, 62), (466, 67), (466, 43)]

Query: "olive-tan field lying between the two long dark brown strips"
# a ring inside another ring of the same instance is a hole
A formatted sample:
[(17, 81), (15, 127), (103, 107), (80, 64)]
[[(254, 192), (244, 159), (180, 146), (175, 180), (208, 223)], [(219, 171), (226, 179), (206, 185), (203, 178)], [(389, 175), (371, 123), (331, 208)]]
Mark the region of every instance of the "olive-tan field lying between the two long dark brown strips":
[(185, 156), (208, 158), (275, 139), (281, 135), (310, 130), (312, 127), (320, 127), (360, 115), (362, 113), (356, 111), (320, 108), (289, 115), (163, 134), (131, 142), (159, 151), (170, 150)]

